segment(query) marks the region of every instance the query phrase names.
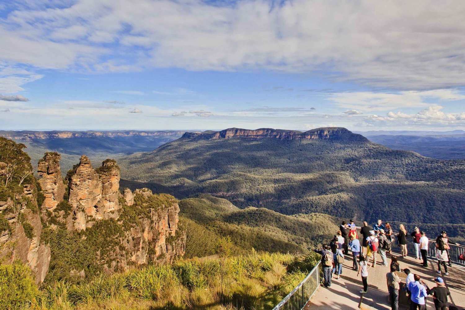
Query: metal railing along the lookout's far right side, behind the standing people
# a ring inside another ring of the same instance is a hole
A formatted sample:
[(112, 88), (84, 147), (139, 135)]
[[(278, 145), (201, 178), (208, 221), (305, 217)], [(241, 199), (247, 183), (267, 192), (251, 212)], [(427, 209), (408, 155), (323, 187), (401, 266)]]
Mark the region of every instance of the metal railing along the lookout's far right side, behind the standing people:
[[(361, 234), (360, 234), (360, 227), (357, 227), (357, 233), (359, 235), (359, 238), (361, 237)], [(392, 236), (392, 242), (391, 242), (391, 248), (392, 248), (392, 251), (393, 252), (396, 252), (396, 253), (400, 253), (400, 246), (397, 244), (397, 236), (399, 235), (399, 233), (397, 232), (393, 232), (393, 236)], [(408, 252), (408, 255), (409, 256), (413, 256), (413, 257), (416, 257), (416, 253), (415, 253), (415, 245), (414, 245), (414, 242), (412, 241), (413, 240), (413, 237), (412, 236), (406, 236), (407, 237), (407, 252)], [(428, 243), (428, 258), (432, 258), (432, 259), (436, 259), (436, 239), (428, 239), (429, 240), (429, 243)], [(361, 244), (361, 240), (360, 240), (360, 244)], [(460, 260), (458, 257), (460, 256), (460, 254), (464, 254), (465, 255), (465, 246), (463, 245), (456, 245), (456, 244), (449, 244), (449, 259), (451, 260), (451, 263), (453, 264), (458, 264), (460, 266), (465, 266), (465, 261), (463, 260)], [(421, 254), (419, 255), (419, 257), (421, 258)]]

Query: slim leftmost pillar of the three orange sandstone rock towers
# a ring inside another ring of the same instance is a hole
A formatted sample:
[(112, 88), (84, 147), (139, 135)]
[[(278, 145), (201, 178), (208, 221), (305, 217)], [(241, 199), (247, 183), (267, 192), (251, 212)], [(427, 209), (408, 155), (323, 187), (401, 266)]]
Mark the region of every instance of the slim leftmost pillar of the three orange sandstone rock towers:
[(63, 201), (63, 195), (65, 194), (65, 184), (60, 170), (60, 158), (60, 154), (56, 152), (45, 153), (44, 157), (39, 160), (37, 168), (38, 182), (45, 196), (42, 208), (48, 211), (53, 211)]

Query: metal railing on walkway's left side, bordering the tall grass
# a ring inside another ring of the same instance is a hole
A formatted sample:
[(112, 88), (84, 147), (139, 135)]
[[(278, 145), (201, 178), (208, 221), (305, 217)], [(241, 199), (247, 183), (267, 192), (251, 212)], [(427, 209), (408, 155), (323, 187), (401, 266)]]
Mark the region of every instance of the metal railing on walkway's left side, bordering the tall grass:
[(283, 300), (281, 300), (273, 310), (302, 310), (313, 297), (320, 285), (319, 265), (321, 261), (313, 267), (312, 271), (305, 279), (297, 285)]

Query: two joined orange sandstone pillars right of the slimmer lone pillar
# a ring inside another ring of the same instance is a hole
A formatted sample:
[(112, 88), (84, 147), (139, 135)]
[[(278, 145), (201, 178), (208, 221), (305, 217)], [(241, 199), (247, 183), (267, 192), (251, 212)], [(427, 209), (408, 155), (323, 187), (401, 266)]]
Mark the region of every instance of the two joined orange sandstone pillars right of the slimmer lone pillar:
[(120, 168), (114, 160), (107, 159), (94, 170), (89, 158), (82, 155), (67, 179), (72, 211), (66, 219), (68, 229), (84, 230), (94, 220), (118, 218)]

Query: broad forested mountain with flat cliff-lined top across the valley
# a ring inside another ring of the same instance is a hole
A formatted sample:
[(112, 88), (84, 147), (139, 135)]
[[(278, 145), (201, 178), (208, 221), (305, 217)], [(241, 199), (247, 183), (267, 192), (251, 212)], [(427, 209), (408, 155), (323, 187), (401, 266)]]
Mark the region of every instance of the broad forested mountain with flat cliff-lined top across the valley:
[(186, 132), (121, 157), (122, 177), (239, 208), (406, 223), (465, 223), (465, 161), (426, 158), (345, 128)]

